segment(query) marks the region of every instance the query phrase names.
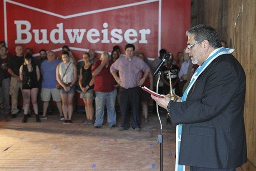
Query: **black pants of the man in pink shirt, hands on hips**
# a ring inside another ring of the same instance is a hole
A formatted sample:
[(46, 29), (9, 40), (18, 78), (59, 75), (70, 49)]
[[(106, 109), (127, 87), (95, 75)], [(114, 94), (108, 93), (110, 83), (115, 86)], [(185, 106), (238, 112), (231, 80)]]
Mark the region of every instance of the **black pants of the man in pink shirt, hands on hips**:
[(140, 128), (140, 87), (128, 88), (123, 87), (119, 88), (118, 92), (118, 103), (121, 110), (121, 127), (126, 130), (129, 128), (129, 114), (128, 106), (130, 105), (132, 114), (131, 114), (131, 126), (132, 128)]

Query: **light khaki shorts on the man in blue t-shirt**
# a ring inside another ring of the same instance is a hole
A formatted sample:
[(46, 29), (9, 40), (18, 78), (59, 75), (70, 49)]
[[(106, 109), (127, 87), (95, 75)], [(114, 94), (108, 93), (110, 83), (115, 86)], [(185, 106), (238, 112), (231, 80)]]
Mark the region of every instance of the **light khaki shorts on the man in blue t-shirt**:
[(43, 102), (48, 102), (51, 99), (55, 102), (61, 102), (60, 91), (57, 88), (42, 88), (41, 90), (41, 98)]

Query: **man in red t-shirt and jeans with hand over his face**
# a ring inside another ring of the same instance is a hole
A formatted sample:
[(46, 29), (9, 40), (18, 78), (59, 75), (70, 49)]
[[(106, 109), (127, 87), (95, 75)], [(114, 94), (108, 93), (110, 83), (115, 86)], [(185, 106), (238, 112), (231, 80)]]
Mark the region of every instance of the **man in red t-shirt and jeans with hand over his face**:
[(108, 52), (103, 52), (100, 60), (96, 61), (92, 67), (92, 76), (95, 77), (95, 123), (94, 128), (102, 127), (104, 120), (104, 107), (107, 107), (107, 123), (111, 128), (116, 127), (116, 81), (110, 73), (110, 61)]

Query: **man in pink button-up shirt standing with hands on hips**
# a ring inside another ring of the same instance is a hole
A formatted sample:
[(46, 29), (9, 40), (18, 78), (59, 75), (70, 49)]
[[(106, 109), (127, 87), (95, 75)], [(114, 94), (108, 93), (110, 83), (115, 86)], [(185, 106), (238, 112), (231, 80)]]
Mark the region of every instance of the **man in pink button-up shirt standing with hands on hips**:
[[(125, 57), (120, 57), (110, 67), (111, 74), (120, 85), (118, 102), (122, 118), (119, 131), (128, 130), (130, 126), (127, 111), (128, 104), (131, 105), (132, 109), (131, 126), (135, 131), (140, 131), (139, 108), (141, 88), (139, 86), (144, 83), (150, 72), (150, 68), (142, 59), (133, 55), (134, 50), (135, 47), (133, 44), (127, 44), (125, 46)], [(141, 78), (141, 71), (145, 73), (143, 78)]]

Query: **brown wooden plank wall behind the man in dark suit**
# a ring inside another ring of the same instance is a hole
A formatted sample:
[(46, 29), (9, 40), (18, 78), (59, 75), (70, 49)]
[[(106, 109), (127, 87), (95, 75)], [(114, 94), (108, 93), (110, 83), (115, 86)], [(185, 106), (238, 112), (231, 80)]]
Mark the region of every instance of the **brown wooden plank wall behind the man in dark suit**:
[[(191, 0), (191, 26), (211, 24), (228, 47), (235, 48), (233, 55), (246, 73), (246, 124), (248, 162), (244, 171), (256, 168), (256, 0)], [(236, 25), (235, 25), (236, 23)]]

